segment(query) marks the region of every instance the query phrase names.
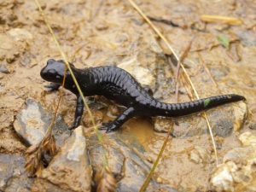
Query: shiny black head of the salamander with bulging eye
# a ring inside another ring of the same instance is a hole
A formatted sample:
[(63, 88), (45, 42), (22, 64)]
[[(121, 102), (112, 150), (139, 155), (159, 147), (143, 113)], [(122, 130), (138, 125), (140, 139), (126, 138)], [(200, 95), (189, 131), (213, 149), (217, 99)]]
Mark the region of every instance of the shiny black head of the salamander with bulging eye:
[[(47, 65), (41, 70), (40, 75), (44, 80), (61, 84), (64, 77), (64, 73), (65, 73), (64, 61), (61, 61), (61, 60), (55, 61), (54, 59), (49, 59), (47, 61)], [(67, 71), (66, 74), (68, 76), (69, 72)]]

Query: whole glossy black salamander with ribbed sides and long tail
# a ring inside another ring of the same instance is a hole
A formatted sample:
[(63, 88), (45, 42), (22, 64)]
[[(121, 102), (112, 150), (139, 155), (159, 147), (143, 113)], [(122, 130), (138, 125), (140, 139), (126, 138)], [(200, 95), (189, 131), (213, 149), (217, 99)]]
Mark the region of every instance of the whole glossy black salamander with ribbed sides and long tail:
[[(102, 129), (108, 132), (119, 129), (125, 121), (135, 116), (178, 117), (214, 108), (225, 103), (245, 100), (243, 96), (231, 94), (212, 96), (194, 102), (164, 103), (154, 99), (147, 90), (143, 89), (141, 84), (137, 83), (130, 73), (119, 67), (105, 66), (78, 69), (71, 64), (71, 68), (84, 96), (105, 96), (126, 107), (125, 111), (117, 119), (102, 125)], [(52, 82), (48, 86), (50, 90), (58, 90), (61, 86), (64, 72), (65, 64), (63, 61), (50, 59), (40, 74), (43, 79)], [(71, 129), (75, 129), (80, 124), (84, 102), (73, 83), (69, 71), (67, 71), (64, 87), (72, 91), (78, 98), (74, 122), (71, 127)]]

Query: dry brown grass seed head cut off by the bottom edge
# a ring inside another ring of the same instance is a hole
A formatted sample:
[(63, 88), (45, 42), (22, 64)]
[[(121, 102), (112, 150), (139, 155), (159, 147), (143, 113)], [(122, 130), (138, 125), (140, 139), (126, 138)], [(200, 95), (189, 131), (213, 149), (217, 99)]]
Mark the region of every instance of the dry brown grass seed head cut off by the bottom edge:
[(116, 180), (106, 166), (101, 172), (96, 172), (95, 176), (97, 192), (116, 191)]

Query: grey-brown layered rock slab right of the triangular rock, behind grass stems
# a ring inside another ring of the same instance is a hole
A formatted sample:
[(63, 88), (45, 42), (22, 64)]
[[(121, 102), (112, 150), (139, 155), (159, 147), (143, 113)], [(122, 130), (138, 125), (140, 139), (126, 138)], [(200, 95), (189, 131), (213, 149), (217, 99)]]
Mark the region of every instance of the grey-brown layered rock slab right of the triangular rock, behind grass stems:
[[(141, 158), (143, 147), (139, 143), (127, 143), (129, 141), (119, 132), (108, 135), (108, 167), (118, 181), (117, 191), (138, 191), (143, 184), (150, 166)], [(94, 172), (103, 165), (103, 150), (96, 137), (89, 138), (89, 154)], [(140, 155), (141, 154), (141, 155)], [(156, 183), (154, 179), (149, 183), (147, 191), (165, 189), (164, 191), (176, 191), (171, 186)]]

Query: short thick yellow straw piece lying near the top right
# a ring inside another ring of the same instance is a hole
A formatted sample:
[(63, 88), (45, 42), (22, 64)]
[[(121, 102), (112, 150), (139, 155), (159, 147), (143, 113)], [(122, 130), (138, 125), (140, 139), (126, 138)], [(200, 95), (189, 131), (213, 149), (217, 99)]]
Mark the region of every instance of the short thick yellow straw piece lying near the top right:
[(201, 15), (201, 20), (205, 22), (220, 22), (229, 25), (241, 25), (242, 20), (235, 17), (226, 17), (220, 15)]

